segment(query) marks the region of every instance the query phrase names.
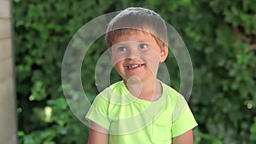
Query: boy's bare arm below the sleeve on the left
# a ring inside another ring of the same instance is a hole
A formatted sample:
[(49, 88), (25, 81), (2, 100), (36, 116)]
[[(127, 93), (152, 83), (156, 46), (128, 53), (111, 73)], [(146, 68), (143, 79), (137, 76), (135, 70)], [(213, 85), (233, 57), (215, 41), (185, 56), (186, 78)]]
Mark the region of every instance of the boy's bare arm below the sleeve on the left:
[(88, 144), (108, 144), (108, 130), (94, 122), (90, 122)]

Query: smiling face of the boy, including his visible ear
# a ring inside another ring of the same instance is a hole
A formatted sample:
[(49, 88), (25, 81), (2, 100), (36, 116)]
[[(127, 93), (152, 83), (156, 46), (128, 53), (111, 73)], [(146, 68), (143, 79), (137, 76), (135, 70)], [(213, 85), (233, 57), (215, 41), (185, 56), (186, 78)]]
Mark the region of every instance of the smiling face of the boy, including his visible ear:
[(168, 48), (160, 48), (147, 32), (130, 31), (113, 39), (110, 50), (115, 69), (125, 81), (132, 77), (141, 81), (156, 78), (160, 62), (166, 60)]

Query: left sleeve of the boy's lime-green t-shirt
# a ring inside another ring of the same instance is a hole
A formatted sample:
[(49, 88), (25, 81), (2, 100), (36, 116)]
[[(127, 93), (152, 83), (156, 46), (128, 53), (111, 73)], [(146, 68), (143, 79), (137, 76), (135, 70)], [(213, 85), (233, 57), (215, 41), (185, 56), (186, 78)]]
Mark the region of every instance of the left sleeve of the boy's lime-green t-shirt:
[(93, 101), (85, 118), (99, 124), (106, 130), (109, 130), (110, 121), (108, 118), (108, 100), (101, 95), (98, 95), (95, 101)]

